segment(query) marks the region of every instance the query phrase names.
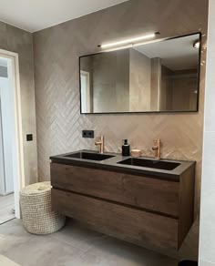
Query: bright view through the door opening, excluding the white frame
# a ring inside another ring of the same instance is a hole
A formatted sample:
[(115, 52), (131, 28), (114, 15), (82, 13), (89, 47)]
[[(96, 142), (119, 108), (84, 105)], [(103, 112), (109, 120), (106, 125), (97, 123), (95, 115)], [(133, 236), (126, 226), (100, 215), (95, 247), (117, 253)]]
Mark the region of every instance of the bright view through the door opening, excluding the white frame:
[(12, 91), (8, 77), (8, 59), (0, 57), (0, 224), (15, 218), (13, 173)]

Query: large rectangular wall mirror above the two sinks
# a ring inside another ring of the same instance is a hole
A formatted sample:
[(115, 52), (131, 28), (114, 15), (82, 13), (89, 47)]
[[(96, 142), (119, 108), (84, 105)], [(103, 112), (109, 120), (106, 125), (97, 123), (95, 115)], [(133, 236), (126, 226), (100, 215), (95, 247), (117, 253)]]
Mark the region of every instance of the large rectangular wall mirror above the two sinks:
[(198, 42), (200, 33), (81, 56), (81, 113), (198, 111)]

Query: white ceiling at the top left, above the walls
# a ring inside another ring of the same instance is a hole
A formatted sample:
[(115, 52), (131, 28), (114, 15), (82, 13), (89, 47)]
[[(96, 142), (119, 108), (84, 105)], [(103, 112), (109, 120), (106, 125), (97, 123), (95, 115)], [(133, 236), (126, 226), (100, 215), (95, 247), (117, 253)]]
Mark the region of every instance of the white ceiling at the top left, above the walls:
[(128, 0), (0, 0), (0, 21), (29, 32)]

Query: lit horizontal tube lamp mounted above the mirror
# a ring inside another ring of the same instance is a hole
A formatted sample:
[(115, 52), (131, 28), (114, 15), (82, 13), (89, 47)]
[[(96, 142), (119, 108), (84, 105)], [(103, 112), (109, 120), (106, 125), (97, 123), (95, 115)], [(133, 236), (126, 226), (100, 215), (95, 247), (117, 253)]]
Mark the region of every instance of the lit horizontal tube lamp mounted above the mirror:
[(98, 47), (101, 47), (102, 49), (106, 49), (106, 48), (111, 48), (111, 47), (114, 47), (114, 46), (133, 45), (134, 43), (153, 38), (153, 37), (155, 37), (157, 35), (159, 35), (159, 32), (156, 32), (156, 33), (153, 33), (153, 34), (148, 34), (148, 35), (145, 35), (145, 36), (138, 36), (138, 37), (135, 37), (135, 38), (126, 39), (126, 40), (115, 42), (115, 43), (109, 43), (109, 44), (105, 44), (105, 45), (98, 45)]

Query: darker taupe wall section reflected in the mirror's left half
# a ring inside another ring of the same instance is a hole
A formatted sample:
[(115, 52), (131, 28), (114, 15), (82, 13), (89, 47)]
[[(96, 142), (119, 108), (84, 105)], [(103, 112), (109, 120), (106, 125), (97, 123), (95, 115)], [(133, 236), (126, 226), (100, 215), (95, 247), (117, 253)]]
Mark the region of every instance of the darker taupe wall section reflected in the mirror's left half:
[(129, 51), (93, 56), (93, 110), (97, 113), (129, 109)]

